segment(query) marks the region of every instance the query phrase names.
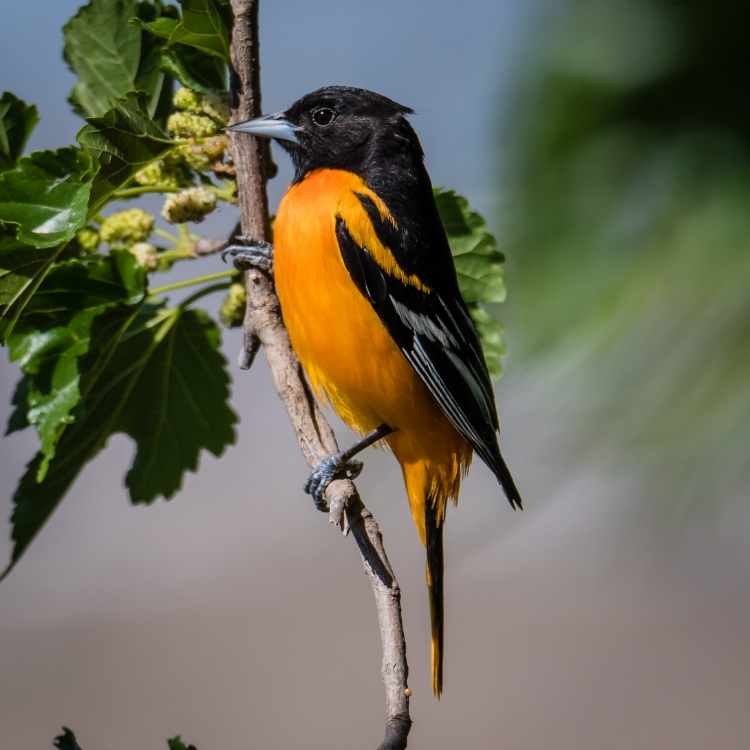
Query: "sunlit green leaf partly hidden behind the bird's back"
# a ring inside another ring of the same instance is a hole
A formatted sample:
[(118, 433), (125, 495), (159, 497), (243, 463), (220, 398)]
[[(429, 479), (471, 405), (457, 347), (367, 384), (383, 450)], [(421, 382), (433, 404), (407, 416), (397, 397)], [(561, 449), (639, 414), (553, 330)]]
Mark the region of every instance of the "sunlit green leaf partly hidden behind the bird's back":
[(461, 295), (479, 333), (490, 373), (500, 376), (505, 354), (503, 327), (486, 309), (505, 300), (505, 258), (487, 223), (466, 198), (453, 190), (434, 190), (440, 218), (448, 235)]

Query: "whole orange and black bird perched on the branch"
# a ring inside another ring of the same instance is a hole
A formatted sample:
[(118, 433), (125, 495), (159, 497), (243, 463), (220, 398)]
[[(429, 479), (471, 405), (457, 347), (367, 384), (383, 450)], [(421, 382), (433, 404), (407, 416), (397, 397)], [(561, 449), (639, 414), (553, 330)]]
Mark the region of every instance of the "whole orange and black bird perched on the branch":
[(294, 164), (273, 247), (233, 246), (238, 265), (273, 268), (284, 323), (316, 393), (363, 439), (329, 457), (306, 491), (384, 441), (427, 551), (432, 688), (443, 686), (443, 523), (476, 452), (510, 504), (521, 497), (498, 445), (495, 397), (456, 280), (408, 107), (329, 86), (286, 112), (232, 126), (273, 138)]

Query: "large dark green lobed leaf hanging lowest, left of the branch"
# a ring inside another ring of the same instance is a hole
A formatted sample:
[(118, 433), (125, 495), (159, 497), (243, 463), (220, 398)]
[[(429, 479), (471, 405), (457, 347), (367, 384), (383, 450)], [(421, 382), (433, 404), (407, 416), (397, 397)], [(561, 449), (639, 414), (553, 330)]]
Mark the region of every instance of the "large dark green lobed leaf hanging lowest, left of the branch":
[(203, 312), (120, 306), (96, 317), (80, 361), (81, 401), (43, 482), (44, 454), (28, 465), (15, 495), (13, 568), (83, 466), (116, 432), (136, 441), (126, 484), (133, 502), (171, 497), (201, 450), (220, 455), (234, 442), (227, 363), (217, 326)]

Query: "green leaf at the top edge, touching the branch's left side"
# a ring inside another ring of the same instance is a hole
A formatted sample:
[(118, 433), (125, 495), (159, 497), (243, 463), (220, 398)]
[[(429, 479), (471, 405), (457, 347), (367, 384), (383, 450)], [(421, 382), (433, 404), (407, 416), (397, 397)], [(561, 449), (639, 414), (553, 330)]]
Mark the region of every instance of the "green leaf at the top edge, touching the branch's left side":
[(167, 45), (187, 45), (229, 64), (229, 23), (227, 10), (214, 0), (180, 0), (180, 19), (162, 17), (144, 23)]

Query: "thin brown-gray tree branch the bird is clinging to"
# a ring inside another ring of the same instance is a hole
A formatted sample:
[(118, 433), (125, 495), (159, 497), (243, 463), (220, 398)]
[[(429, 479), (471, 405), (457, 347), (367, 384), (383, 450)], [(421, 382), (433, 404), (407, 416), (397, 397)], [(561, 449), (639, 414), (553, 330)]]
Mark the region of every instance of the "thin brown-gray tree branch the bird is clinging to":
[[(258, 0), (231, 0), (232, 122), (260, 114), (260, 64), (258, 53)], [(266, 176), (270, 159), (267, 146), (257, 139), (232, 134), (234, 164), (242, 233), (259, 241), (270, 240)], [(333, 430), (316, 403), (302, 367), (292, 351), (281, 319), (273, 280), (259, 270), (245, 274), (247, 311), (243, 324), (244, 354), (240, 364), (249, 367), (263, 346), (276, 390), (289, 413), (300, 449), (310, 466), (338, 451)], [(385, 739), (380, 750), (406, 747), (409, 715), (409, 667), (401, 617), (401, 593), (383, 546), (377, 521), (367, 510), (350, 480), (336, 480), (326, 491), (330, 519), (352, 531), (365, 573), (370, 581), (383, 647), (382, 675), (386, 694)]]

